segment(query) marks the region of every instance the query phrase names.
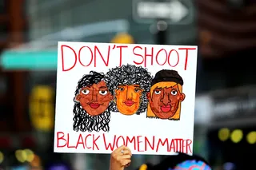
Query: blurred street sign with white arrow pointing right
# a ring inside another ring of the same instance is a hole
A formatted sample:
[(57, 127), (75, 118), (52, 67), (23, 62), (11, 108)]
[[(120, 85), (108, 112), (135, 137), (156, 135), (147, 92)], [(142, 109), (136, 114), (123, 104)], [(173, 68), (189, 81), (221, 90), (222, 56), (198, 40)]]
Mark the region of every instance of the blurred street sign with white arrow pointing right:
[(133, 18), (138, 23), (151, 24), (156, 19), (163, 19), (168, 24), (190, 24), (194, 18), (194, 9), (190, 0), (134, 0)]

